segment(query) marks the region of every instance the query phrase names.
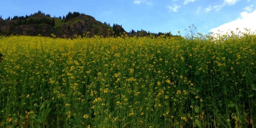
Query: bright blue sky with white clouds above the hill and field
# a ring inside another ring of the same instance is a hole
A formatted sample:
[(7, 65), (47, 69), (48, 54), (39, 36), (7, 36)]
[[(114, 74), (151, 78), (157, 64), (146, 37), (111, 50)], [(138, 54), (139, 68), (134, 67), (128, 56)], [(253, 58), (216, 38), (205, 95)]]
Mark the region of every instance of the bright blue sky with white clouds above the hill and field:
[(103, 23), (118, 23), (127, 32), (184, 35), (192, 24), (203, 34), (256, 30), (256, 0), (0, 0), (0, 6), (4, 19), (39, 10), (56, 17), (80, 12)]

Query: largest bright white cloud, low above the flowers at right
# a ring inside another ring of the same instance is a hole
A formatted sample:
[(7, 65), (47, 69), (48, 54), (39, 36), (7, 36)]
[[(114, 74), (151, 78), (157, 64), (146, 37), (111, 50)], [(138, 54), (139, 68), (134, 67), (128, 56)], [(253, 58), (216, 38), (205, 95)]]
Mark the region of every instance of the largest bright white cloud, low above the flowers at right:
[(256, 10), (251, 13), (241, 12), (240, 17), (236, 20), (233, 20), (228, 23), (224, 23), (221, 26), (213, 28), (210, 32), (219, 33), (219, 31), (224, 34), (226, 32), (234, 31), (236, 32), (236, 28), (239, 28), (241, 32), (245, 32), (246, 29), (250, 29), (251, 31), (256, 31)]

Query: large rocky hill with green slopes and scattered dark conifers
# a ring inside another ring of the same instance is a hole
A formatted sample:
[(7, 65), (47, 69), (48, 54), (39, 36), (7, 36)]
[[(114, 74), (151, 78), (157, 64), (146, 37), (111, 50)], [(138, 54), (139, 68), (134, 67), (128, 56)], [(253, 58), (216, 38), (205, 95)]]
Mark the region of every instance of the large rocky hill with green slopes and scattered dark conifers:
[(94, 17), (77, 12), (69, 13), (68, 20), (50, 17), (38, 12), (26, 17), (13, 17), (0, 20), (0, 33), (3, 35), (43, 35), (57, 37), (75, 35), (113, 35), (113, 28), (97, 21)]

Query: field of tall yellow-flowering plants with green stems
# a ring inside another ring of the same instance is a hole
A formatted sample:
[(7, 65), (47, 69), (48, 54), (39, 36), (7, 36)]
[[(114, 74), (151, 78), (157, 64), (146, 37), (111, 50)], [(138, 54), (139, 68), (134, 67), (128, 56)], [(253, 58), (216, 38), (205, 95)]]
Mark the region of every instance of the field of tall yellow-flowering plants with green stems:
[(255, 128), (256, 35), (0, 37), (0, 127)]

